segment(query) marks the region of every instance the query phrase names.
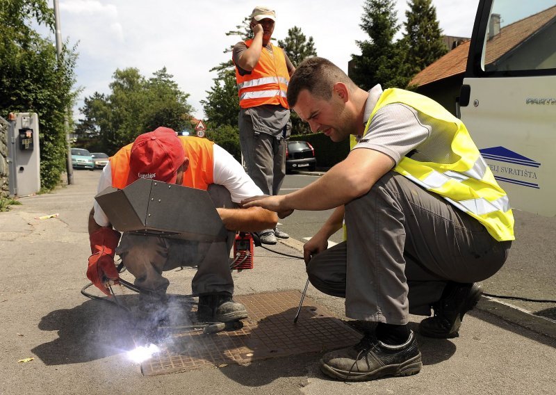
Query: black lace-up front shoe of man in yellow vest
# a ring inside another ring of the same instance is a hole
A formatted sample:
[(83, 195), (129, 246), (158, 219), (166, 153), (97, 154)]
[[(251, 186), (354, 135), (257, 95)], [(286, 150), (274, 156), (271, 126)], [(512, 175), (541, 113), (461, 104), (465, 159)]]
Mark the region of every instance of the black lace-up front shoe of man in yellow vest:
[(414, 332), (400, 346), (390, 346), (366, 334), (358, 344), (325, 354), (320, 370), (343, 381), (377, 380), (384, 376), (411, 376), (419, 373), (423, 362)]

